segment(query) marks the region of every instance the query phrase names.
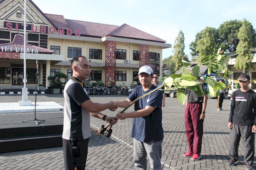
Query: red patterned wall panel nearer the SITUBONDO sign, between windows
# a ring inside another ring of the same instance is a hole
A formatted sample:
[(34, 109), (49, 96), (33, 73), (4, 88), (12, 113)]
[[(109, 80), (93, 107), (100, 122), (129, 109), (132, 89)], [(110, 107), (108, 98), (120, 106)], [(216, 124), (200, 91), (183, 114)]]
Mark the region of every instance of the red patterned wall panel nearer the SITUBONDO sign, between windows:
[(106, 41), (106, 60), (105, 60), (105, 84), (115, 81), (116, 77), (116, 42)]

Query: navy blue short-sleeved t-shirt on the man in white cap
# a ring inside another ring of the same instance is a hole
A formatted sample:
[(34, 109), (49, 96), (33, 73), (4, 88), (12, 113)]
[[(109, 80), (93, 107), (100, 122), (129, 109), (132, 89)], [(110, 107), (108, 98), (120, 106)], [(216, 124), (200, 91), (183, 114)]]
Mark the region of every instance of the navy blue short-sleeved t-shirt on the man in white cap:
[[(154, 89), (156, 89), (154, 85), (147, 91), (143, 91), (141, 85), (137, 86), (133, 89), (128, 99), (134, 101)], [(161, 90), (156, 90), (134, 103), (134, 111), (145, 109), (146, 106), (155, 107), (155, 110), (147, 116), (133, 118), (131, 129), (132, 138), (142, 142), (157, 142), (163, 140), (162, 97)]]

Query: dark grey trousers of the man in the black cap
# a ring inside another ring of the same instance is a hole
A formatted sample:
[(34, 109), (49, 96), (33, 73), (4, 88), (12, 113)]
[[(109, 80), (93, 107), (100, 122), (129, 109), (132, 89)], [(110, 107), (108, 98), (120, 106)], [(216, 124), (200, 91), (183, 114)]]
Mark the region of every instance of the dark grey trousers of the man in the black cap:
[(246, 165), (252, 165), (254, 160), (254, 133), (252, 126), (232, 124), (230, 131), (229, 156), (233, 160), (238, 160), (238, 146), (240, 138), (244, 146), (244, 161)]

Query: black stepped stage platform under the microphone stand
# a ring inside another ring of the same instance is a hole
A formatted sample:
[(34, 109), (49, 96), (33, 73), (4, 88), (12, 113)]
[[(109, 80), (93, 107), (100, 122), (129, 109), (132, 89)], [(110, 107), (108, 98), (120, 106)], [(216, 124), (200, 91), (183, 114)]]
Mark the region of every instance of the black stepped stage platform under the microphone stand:
[[(1, 114), (0, 153), (62, 146), (63, 113)], [(45, 121), (39, 121), (45, 120)]]

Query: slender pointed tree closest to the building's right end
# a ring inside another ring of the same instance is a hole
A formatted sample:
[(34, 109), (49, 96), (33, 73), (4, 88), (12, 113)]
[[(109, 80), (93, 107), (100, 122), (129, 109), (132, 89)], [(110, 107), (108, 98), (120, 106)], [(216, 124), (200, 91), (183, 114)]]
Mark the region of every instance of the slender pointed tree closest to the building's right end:
[(174, 64), (174, 72), (178, 71), (181, 68), (181, 66), (182, 66), (181, 60), (184, 60), (184, 56), (185, 56), (184, 40), (185, 40), (184, 34), (180, 30), (178, 36), (175, 39), (175, 42), (173, 45), (173, 50), (172, 50), (172, 52), (174, 52), (173, 57), (172, 57), (172, 61)]

